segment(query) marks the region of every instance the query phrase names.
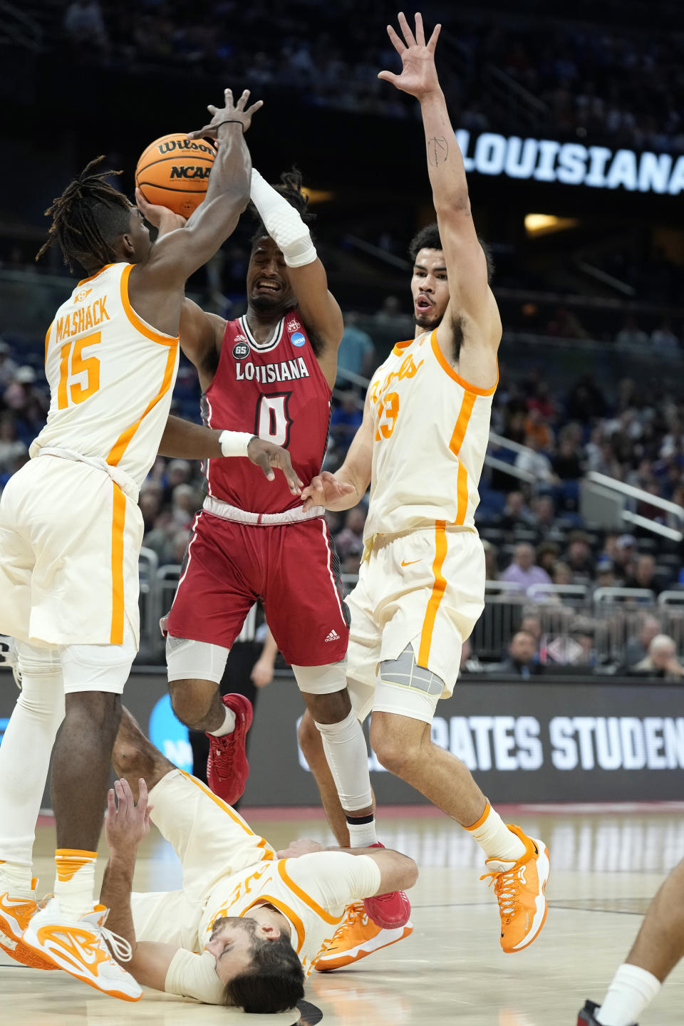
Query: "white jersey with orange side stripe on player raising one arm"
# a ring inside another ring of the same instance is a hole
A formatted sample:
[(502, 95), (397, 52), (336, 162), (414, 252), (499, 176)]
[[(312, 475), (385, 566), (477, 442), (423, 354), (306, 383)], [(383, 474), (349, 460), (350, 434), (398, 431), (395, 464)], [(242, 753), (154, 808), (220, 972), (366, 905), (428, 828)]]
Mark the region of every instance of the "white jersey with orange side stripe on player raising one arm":
[(394, 347), (369, 387), (373, 450), (364, 540), (436, 520), (475, 530), (495, 389), (464, 381), (436, 331)]

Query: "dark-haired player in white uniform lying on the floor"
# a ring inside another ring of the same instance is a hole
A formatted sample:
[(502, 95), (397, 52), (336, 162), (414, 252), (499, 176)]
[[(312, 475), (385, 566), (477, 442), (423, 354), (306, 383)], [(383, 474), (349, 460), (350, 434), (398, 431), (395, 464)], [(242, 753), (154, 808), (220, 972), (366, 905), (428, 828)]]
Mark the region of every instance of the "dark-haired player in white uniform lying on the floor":
[[(113, 763), (118, 808), (111, 791), (100, 900), (110, 909), (108, 928), (131, 946), (126, 969), (143, 986), (245, 1012), (291, 1009), (345, 906), (407, 890), (417, 878), (412, 859), (385, 849), (294, 841), (276, 853), (230, 805), (176, 770), (125, 709)], [(151, 810), (180, 860), (183, 889), (131, 895)]]

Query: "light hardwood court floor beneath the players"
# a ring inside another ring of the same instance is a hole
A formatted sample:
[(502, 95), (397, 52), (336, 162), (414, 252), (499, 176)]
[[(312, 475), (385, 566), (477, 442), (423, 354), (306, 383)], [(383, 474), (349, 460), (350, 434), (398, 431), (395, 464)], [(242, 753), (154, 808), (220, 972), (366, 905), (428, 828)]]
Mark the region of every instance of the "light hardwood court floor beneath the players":
[[(300, 1026), (574, 1026), (586, 997), (601, 1000), (623, 959), (651, 896), (684, 856), (684, 803), (575, 806), (510, 812), (547, 841), (552, 876), (550, 911), (537, 941), (504, 955), (493, 897), (479, 881), (481, 858), (445, 817), (401, 811), (383, 820), (388, 846), (413, 856), (420, 878), (412, 892), (413, 935), (356, 966), (314, 974), (307, 997), (322, 1012)], [(247, 812), (251, 826), (277, 846), (292, 837), (330, 843), (311, 815), (267, 819)], [(38, 828), (37, 872), (52, 881), (52, 827)], [(175, 857), (154, 832), (140, 851), (136, 889), (177, 886)], [(198, 1005), (147, 991), (136, 1004), (106, 998), (63, 973), (9, 963), (0, 953), (2, 1026), (213, 1026), (227, 1022), (294, 1023), (298, 1013), (253, 1016)], [(15, 968), (14, 968), (15, 966)], [(684, 970), (679, 966), (641, 1026), (681, 1026)]]

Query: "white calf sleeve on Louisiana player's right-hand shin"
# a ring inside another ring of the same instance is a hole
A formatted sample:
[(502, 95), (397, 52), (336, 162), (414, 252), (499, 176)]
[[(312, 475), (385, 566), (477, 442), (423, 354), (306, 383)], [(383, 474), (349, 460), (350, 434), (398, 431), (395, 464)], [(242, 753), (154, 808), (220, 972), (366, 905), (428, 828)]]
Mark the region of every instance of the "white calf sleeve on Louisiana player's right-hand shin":
[(343, 808), (350, 815), (361, 808), (370, 808), (373, 796), (368, 773), (368, 749), (354, 712), (338, 723), (314, 722), (321, 732), (323, 750)]

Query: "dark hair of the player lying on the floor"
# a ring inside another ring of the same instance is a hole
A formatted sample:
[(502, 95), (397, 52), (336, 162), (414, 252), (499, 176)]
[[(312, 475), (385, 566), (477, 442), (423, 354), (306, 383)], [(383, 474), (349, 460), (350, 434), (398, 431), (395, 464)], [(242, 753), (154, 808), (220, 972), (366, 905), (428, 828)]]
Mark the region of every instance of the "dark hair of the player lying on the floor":
[(226, 1003), (244, 1012), (287, 1012), (304, 997), (304, 969), (290, 940), (254, 941), (245, 972), (226, 984)]

